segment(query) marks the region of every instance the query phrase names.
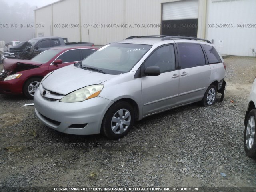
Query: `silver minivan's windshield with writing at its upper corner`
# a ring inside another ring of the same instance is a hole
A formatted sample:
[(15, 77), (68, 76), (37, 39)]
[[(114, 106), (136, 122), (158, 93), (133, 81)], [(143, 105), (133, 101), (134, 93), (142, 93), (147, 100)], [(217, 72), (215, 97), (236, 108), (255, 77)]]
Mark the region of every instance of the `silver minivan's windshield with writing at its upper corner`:
[(107, 74), (126, 73), (151, 47), (142, 44), (111, 43), (85, 58), (81, 67), (99, 69)]

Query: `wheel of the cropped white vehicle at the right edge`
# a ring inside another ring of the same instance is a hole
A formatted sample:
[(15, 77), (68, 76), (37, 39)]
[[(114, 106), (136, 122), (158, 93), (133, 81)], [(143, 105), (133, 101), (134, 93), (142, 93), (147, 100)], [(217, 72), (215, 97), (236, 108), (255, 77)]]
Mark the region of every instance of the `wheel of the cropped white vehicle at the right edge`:
[(256, 158), (256, 136), (255, 136), (256, 110), (249, 112), (244, 128), (244, 150), (250, 158)]

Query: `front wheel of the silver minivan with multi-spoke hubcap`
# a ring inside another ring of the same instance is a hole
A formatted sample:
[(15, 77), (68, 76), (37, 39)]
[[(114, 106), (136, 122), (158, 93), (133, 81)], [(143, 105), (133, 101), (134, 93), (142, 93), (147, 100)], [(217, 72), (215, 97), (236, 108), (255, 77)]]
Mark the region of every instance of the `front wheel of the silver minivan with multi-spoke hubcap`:
[(134, 108), (128, 102), (116, 102), (110, 106), (103, 118), (102, 133), (109, 139), (121, 138), (129, 132), (134, 119)]

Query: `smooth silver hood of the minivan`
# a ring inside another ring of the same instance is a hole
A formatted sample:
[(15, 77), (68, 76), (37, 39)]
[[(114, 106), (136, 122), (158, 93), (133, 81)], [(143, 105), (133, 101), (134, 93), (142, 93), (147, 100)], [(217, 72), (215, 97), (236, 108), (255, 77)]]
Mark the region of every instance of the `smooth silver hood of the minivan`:
[(48, 91), (66, 95), (89, 85), (100, 84), (114, 76), (70, 65), (55, 70), (42, 82), (42, 86)]

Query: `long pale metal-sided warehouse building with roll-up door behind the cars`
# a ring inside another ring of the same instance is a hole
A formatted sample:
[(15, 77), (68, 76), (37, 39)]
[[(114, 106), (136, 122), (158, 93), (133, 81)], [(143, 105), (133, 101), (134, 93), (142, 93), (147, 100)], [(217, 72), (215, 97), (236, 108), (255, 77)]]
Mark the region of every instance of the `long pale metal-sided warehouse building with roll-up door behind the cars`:
[(104, 45), (129, 36), (197, 36), (254, 56), (256, 0), (60, 0), (35, 10), (36, 36)]

